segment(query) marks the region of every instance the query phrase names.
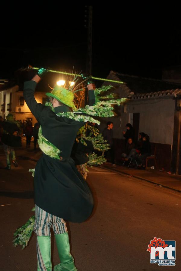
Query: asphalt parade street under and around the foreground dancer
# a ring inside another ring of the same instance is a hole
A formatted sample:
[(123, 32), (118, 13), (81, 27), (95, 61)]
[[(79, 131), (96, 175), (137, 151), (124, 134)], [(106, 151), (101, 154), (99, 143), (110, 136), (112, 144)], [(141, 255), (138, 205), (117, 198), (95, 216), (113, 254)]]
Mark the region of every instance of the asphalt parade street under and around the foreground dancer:
[[(21, 148), (16, 152), (19, 167), (5, 170), (0, 146), (1, 242), (0, 269), (36, 271), (36, 235), (24, 250), (13, 247), (13, 233), (34, 214), (33, 177), (28, 172), (40, 151)], [(87, 183), (94, 195), (94, 211), (84, 223), (67, 223), (71, 254), (79, 271), (180, 270), (180, 194), (143, 180), (88, 167)], [(53, 235), (53, 232), (52, 232)], [(176, 265), (150, 263), (148, 245), (154, 237), (176, 241)], [(52, 264), (59, 263), (52, 238)]]

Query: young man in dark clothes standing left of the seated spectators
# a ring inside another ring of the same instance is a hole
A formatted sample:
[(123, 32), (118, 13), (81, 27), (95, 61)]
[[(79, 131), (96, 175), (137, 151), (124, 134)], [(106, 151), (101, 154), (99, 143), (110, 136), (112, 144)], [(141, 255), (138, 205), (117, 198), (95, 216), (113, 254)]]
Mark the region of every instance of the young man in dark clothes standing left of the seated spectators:
[(114, 161), (114, 142), (113, 142), (113, 122), (108, 121), (107, 127), (103, 130), (103, 138), (104, 140), (107, 140), (106, 144), (110, 145), (110, 149), (105, 152), (105, 157), (107, 157), (107, 154), (110, 153), (111, 156), (111, 163), (113, 167), (116, 167), (115, 161)]

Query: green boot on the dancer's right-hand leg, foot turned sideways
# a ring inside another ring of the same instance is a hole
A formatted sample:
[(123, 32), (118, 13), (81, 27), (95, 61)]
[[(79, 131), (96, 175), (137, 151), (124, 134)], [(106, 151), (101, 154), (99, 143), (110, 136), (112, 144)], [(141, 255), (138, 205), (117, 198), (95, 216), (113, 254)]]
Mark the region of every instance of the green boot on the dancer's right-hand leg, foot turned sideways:
[(56, 245), (59, 252), (60, 262), (54, 267), (54, 271), (78, 271), (74, 264), (74, 258), (70, 254), (68, 232), (55, 234)]

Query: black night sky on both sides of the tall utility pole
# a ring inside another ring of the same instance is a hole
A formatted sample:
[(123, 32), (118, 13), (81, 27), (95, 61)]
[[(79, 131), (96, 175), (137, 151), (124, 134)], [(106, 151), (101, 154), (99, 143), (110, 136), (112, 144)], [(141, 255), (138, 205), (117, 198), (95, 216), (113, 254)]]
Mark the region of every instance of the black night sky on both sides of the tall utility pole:
[[(26, 7), (19, 14), (11, 10), (1, 19), (0, 79), (10, 79), (28, 64), (85, 71), (84, 14), (84, 5), (71, 4)], [(114, 70), (161, 79), (162, 68), (181, 65), (180, 42), (179, 17), (171, 9), (93, 5), (93, 76), (106, 77)]]

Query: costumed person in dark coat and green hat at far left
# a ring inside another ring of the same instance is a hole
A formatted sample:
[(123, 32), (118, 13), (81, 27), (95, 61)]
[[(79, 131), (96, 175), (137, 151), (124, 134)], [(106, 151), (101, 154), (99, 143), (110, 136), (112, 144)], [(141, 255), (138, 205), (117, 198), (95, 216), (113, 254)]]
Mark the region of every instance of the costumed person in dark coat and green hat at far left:
[(10, 155), (12, 163), (15, 167), (18, 167), (14, 147), (21, 147), (21, 138), (16, 136), (16, 132), (20, 131), (19, 127), (14, 121), (13, 115), (8, 114), (6, 117), (7, 121), (2, 122), (3, 135), (2, 135), (2, 143), (6, 156), (6, 169), (11, 169)]

